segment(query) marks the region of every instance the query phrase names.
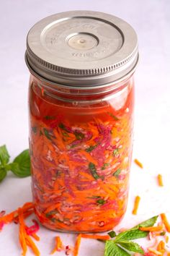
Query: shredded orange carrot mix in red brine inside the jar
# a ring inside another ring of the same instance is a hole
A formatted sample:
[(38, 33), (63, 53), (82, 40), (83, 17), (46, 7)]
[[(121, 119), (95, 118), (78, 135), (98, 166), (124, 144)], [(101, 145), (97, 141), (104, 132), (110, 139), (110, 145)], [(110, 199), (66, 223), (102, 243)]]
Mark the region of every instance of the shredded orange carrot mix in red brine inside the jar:
[[(37, 93), (42, 92), (38, 87)], [(61, 231), (112, 229), (128, 200), (125, 170), (130, 171), (133, 90), (119, 110), (97, 103), (85, 112), (84, 106), (77, 111), (78, 106), (63, 107), (58, 99), (51, 104), (45, 91), (43, 97), (37, 93), (31, 88), (32, 187), (37, 187), (33, 195), (38, 218)]]

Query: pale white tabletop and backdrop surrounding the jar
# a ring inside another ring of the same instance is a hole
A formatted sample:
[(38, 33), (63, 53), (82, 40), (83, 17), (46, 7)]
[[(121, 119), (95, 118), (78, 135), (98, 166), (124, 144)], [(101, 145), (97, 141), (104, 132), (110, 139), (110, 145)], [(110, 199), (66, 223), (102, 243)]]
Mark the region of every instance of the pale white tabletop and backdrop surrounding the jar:
[[(122, 17), (138, 33), (140, 64), (135, 74), (135, 140), (130, 175), (128, 210), (117, 227), (131, 227), (165, 212), (170, 221), (170, 1), (169, 0), (1, 0), (0, 7), (0, 145), (6, 144), (13, 159), (28, 147), (27, 85), (29, 72), (24, 63), (26, 35), (35, 22), (56, 12), (91, 9)], [(157, 174), (164, 177), (158, 187)], [(131, 214), (136, 195), (141, 202), (138, 215)], [(0, 184), (0, 210), (10, 212), (31, 201), (30, 177), (9, 174)], [(49, 255), (58, 233), (40, 228), (37, 246)], [(60, 234), (64, 244), (73, 245), (76, 236)], [(141, 244), (146, 247), (147, 241)], [(21, 255), (18, 226), (4, 226), (0, 234), (0, 255)], [(32, 255), (28, 251), (27, 255)], [(63, 252), (58, 255), (65, 255)], [(103, 256), (104, 244), (84, 239), (79, 256)]]

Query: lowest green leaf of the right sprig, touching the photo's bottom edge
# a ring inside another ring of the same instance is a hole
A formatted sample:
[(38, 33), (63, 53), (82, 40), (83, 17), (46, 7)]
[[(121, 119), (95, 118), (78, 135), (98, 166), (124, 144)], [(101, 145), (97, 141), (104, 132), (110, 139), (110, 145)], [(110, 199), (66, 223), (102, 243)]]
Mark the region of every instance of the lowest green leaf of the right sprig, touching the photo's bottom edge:
[(128, 256), (130, 255), (121, 247), (117, 246), (113, 240), (108, 240), (104, 249), (104, 256)]

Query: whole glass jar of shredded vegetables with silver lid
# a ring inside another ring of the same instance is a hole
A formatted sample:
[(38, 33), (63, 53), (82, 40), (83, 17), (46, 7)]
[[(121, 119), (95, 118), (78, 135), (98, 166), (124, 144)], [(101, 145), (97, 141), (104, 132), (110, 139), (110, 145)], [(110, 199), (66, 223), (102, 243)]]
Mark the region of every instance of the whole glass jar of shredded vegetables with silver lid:
[(64, 12), (27, 36), (32, 194), (56, 231), (116, 226), (128, 201), (138, 40), (123, 20)]

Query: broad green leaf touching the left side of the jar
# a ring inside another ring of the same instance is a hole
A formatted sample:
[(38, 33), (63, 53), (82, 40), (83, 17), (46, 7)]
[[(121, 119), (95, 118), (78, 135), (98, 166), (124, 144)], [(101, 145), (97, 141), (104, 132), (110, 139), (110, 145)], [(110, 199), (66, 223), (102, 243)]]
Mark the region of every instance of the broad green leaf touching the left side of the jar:
[(30, 176), (30, 154), (29, 150), (24, 150), (17, 158), (14, 159), (11, 165), (12, 172), (19, 177)]

